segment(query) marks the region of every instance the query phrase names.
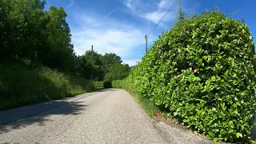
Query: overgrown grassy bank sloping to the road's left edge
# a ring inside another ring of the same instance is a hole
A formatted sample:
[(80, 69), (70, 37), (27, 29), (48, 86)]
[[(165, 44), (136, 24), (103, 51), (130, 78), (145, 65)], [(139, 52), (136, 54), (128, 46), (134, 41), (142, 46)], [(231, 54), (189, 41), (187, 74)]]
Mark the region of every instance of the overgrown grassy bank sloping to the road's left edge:
[(0, 110), (96, 90), (93, 82), (48, 68), (0, 66)]

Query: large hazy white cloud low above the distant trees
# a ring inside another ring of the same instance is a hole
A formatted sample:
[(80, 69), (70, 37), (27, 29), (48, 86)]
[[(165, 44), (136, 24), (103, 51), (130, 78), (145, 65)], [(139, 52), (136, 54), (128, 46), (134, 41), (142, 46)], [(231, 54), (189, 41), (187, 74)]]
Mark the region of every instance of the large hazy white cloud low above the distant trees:
[[(105, 21), (104, 25), (91, 26), (102, 18), (90, 15), (83, 15), (80, 18), (78, 19), (80, 29), (72, 30), (72, 42), (83, 50), (90, 50), (90, 46), (94, 45), (94, 50), (100, 54), (116, 53), (125, 59), (130, 57), (143, 42), (143, 27), (136, 27), (112, 18)], [(75, 50), (75, 52), (78, 55), (84, 53), (82, 50)]]

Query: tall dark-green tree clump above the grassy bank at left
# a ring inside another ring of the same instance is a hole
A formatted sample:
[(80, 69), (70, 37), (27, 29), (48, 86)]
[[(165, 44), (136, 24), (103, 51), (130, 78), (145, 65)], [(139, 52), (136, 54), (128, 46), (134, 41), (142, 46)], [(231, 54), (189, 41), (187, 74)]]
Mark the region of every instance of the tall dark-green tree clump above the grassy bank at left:
[(63, 8), (45, 1), (0, 0), (0, 62), (24, 61), (67, 71), (73, 64), (70, 28)]

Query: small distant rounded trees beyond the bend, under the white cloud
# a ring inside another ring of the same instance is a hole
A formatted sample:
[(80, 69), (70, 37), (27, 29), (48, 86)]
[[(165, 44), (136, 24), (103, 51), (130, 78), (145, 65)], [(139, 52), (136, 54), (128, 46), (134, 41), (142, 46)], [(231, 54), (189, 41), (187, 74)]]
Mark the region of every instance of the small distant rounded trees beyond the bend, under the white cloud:
[(129, 65), (122, 64), (121, 58), (114, 53), (102, 55), (88, 50), (84, 55), (78, 57), (78, 61), (78, 74), (87, 79), (92, 77), (94, 81), (122, 79), (130, 73)]

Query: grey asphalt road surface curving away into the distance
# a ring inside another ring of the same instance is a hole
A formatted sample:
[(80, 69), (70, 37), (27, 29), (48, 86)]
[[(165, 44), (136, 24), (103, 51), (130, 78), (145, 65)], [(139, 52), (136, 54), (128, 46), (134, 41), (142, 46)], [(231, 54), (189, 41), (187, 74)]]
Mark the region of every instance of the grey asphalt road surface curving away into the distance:
[[(26, 107), (26, 112), (30, 110), (34, 107)], [(14, 112), (0, 113), (0, 118), (6, 114), (15, 119)], [(74, 98), (50, 110), (6, 122), (0, 126), (0, 143), (166, 142), (130, 94), (112, 89)]]

